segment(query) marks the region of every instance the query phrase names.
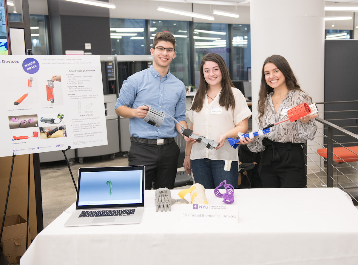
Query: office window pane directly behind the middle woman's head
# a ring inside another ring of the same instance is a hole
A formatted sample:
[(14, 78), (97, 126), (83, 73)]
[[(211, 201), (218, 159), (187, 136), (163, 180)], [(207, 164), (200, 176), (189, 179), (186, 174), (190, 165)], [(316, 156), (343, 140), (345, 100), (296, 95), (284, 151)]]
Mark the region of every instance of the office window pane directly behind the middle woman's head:
[(228, 24), (194, 23), (195, 87), (199, 86), (199, 67), (203, 56), (217, 53), (229, 63)]

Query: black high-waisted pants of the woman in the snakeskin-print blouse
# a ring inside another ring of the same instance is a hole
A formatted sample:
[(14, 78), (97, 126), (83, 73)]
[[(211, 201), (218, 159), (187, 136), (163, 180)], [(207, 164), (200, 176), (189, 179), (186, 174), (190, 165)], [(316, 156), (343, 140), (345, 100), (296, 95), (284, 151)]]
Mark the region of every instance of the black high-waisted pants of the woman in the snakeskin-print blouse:
[(273, 142), (263, 139), (258, 173), (264, 188), (304, 188), (306, 173), (303, 147), (300, 143)]

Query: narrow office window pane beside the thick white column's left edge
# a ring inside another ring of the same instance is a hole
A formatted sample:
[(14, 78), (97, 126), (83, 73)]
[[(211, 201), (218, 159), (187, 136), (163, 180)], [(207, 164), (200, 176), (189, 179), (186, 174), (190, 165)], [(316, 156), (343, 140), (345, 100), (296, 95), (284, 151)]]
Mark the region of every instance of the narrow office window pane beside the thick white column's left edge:
[(233, 80), (251, 80), (250, 25), (232, 25)]

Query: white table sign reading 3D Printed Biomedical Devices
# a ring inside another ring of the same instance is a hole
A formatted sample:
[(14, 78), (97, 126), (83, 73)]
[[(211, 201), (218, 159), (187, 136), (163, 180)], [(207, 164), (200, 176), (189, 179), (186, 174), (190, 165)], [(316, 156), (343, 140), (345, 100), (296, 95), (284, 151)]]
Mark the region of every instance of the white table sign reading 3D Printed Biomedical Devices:
[(180, 221), (192, 223), (236, 224), (237, 205), (182, 204)]

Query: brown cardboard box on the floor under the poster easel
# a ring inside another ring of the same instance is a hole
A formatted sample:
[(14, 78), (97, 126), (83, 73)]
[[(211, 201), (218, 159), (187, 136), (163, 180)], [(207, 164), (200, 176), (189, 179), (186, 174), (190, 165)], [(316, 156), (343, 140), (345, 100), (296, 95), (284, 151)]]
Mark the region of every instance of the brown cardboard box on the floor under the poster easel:
[[(3, 218), (0, 218), (0, 225)], [(30, 246), (31, 237), (29, 229), (28, 246)], [(20, 262), (20, 257), (26, 250), (26, 220), (20, 215), (5, 217), (3, 236), (0, 247), (10, 264)]]

